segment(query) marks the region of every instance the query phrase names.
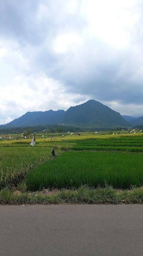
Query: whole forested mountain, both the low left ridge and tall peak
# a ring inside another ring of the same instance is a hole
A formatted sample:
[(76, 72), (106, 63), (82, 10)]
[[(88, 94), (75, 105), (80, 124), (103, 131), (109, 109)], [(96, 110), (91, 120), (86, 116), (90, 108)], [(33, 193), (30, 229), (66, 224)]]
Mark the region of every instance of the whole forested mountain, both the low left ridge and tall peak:
[[(120, 113), (96, 100), (70, 107), (67, 111), (37, 111), (27, 112), (21, 117), (6, 124), (5, 127), (25, 127), (42, 124), (70, 124), (86, 127), (115, 128), (128, 127), (130, 124)], [(2, 128), (3, 126), (1, 126)], [(4, 128), (4, 127), (3, 127)]]

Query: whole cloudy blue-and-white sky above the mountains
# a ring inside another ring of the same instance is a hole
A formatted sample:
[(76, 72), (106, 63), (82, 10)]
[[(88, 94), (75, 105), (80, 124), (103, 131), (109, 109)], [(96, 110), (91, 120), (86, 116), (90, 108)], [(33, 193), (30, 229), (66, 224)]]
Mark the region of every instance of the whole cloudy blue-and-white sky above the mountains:
[(0, 0), (0, 124), (89, 99), (143, 115), (143, 0)]

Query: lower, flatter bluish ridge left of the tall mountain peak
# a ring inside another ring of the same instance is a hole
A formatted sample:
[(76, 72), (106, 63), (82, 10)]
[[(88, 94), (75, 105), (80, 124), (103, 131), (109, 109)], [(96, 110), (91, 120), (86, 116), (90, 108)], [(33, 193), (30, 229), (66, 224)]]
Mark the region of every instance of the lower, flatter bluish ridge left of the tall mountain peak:
[(65, 111), (57, 110), (53, 111), (52, 109), (49, 111), (35, 111), (35, 112), (27, 112), (21, 117), (11, 121), (6, 124), (6, 126), (35, 126), (41, 124), (57, 124), (62, 123)]

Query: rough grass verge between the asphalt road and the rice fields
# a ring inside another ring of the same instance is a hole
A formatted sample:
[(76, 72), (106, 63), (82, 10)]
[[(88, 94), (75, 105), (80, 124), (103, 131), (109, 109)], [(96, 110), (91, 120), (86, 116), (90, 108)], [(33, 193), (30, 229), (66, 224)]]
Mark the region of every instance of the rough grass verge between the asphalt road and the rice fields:
[(143, 188), (115, 190), (112, 187), (78, 190), (53, 190), (18, 194), (12, 190), (0, 191), (0, 204), (142, 204)]

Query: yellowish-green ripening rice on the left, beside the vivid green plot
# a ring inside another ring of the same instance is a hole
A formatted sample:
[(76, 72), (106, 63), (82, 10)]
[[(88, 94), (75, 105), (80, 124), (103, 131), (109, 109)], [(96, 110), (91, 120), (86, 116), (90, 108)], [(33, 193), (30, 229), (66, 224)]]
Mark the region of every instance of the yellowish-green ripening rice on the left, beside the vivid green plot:
[(74, 143), (36, 139), (35, 147), (30, 145), (31, 139), (0, 141), (0, 187), (17, 184), (26, 172), (53, 158), (51, 151), (56, 150), (58, 157), (69, 150)]

